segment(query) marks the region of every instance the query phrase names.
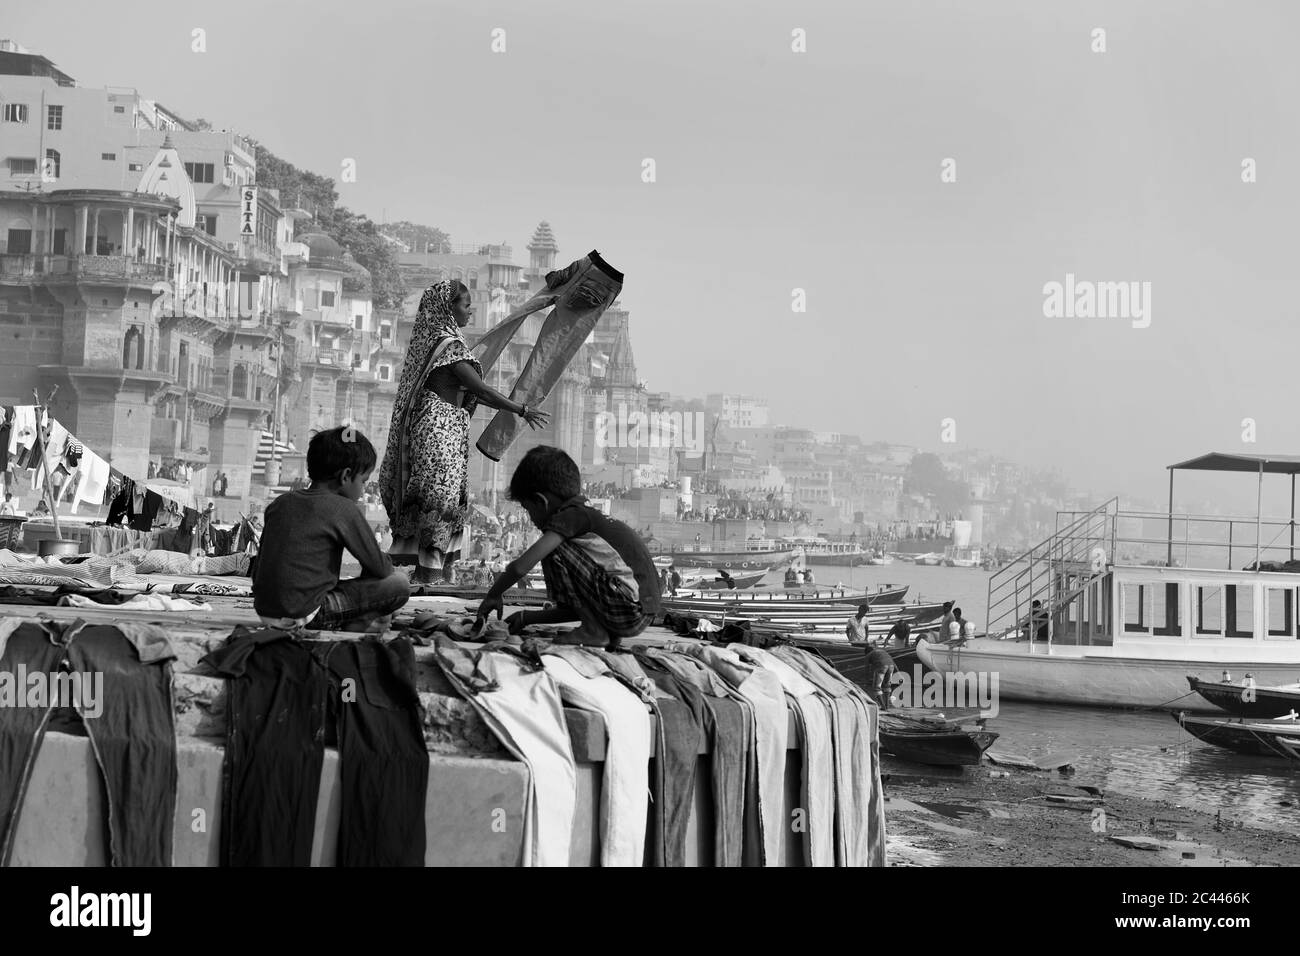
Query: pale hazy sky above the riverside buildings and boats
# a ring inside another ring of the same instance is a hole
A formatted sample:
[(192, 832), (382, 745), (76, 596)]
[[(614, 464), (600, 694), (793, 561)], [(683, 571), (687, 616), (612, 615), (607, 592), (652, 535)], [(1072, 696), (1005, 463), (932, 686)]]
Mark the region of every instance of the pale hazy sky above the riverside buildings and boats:
[[(757, 393), (779, 421), (931, 450), (953, 418), (961, 444), (1098, 490), (1161, 494), (1165, 464), (1212, 449), (1300, 451), (1294, 0), (6, 14), (83, 86), (134, 86), (335, 179), (355, 159), (341, 202), (376, 220), (519, 261), (542, 219), (566, 261), (598, 247), (653, 389)], [(1044, 317), (1067, 272), (1150, 282), (1150, 326)]]

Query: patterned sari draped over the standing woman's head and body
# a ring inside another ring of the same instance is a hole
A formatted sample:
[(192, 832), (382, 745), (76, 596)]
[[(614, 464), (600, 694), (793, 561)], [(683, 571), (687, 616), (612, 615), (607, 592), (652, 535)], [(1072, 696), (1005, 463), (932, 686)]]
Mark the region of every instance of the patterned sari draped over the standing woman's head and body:
[(464, 544), (474, 402), (451, 405), (425, 382), (436, 369), (459, 362), (482, 373), (452, 315), (454, 287), (448, 280), (436, 282), (420, 299), (378, 479), (393, 553), (419, 549), (434, 561), (445, 561)]

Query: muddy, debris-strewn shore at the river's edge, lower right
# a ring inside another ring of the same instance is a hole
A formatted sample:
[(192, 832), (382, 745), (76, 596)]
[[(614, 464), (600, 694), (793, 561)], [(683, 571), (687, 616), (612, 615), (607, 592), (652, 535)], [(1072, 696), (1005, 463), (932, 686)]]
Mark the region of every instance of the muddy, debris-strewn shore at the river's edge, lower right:
[(881, 774), (890, 866), (1300, 865), (1300, 835), (1108, 792), (1082, 774), (888, 756)]

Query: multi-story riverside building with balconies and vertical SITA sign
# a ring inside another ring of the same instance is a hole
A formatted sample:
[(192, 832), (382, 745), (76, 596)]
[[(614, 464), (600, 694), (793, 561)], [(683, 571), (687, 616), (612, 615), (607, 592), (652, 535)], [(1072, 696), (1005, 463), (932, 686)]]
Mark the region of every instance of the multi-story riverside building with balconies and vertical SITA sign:
[(298, 211), (256, 187), (242, 137), (78, 87), (12, 42), (0, 103), (4, 401), (57, 385), (55, 416), (122, 472), (183, 464), (248, 494), (294, 359), (281, 278)]

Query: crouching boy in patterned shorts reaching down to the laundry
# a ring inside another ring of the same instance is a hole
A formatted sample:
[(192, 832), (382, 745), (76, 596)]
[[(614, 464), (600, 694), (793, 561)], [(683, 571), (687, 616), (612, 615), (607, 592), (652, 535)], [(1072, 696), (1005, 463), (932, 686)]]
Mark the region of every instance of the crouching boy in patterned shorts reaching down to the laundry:
[(510, 617), (511, 633), (529, 624), (581, 622), (562, 643), (618, 649), (641, 633), (659, 611), (659, 576), (646, 546), (623, 522), (581, 497), (577, 464), (564, 451), (540, 445), (519, 463), (510, 497), (523, 505), (542, 537), (506, 566), (478, 607), (480, 623), (502, 615), (502, 594), (542, 562), (555, 607)]

